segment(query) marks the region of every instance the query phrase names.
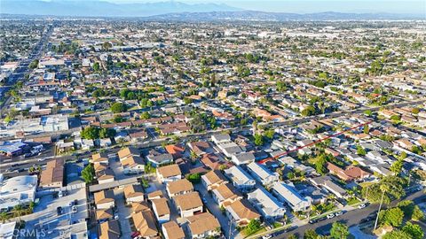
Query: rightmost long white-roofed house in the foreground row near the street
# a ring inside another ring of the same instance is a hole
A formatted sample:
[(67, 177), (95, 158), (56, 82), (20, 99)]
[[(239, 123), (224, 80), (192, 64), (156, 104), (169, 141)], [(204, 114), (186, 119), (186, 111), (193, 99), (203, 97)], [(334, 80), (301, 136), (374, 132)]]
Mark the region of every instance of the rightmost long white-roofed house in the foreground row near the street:
[(292, 185), (276, 181), (272, 186), (273, 194), (293, 210), (293, 212), (305, 211), (312, 204), (311, 197), (302, 197)]

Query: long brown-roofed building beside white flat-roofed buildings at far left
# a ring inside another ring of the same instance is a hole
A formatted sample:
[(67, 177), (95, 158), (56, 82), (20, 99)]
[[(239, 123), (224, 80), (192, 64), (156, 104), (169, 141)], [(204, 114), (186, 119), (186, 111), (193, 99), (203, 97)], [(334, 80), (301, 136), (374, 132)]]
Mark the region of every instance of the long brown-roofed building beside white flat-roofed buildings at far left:
[(56, 158), (47, 162), (40, 175), (40, 189), (62, 188), (64, 181), (64, 159)]

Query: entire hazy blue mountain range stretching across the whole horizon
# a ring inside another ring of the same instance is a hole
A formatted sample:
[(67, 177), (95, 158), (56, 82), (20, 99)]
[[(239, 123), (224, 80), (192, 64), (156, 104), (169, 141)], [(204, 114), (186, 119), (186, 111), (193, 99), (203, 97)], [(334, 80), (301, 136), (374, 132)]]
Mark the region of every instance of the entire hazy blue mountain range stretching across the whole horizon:
[(75, 17), (137, 17), (147, 20), (345, 20), (425, 19), (423, 15), (392, 13), (282, 13), (245, 11), (226, 4), (184, 4), (176, 1), (113, 4), (100, 0), (0, 0), (0, 13)]

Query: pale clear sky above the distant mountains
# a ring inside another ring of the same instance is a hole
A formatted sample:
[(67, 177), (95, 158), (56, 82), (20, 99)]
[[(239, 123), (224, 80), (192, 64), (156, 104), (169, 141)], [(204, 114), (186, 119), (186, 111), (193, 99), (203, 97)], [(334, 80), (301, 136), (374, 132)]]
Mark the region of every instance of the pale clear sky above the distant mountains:
[[(153, 3), (166, 0), (103, 0), (112, 3)], [(264, 12), (415, 13), (426, 17), (426, 0), (174, 0), (185, 4), (227, 4)]]

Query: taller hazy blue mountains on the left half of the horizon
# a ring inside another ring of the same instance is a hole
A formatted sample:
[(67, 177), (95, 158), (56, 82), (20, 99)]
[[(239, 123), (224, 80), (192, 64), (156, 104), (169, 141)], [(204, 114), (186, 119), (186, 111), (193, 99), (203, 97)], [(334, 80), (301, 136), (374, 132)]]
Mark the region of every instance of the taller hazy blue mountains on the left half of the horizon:
[(146, 17), (174, 12), (241, 11), (226, 4), (184, 4), (176, 1), (113, 4), (99, 0), (0, 0), (0, 13), (77, 16), (77, 17)]

